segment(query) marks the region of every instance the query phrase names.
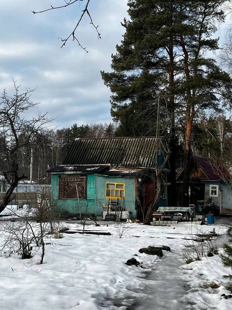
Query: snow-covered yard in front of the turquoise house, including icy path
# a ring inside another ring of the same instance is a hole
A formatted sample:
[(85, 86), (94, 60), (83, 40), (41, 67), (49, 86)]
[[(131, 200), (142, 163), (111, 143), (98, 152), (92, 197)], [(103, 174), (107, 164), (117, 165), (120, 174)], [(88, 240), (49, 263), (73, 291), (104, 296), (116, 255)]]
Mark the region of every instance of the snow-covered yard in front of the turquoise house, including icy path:
[[(4, 225), (4, 222), (0, 222)], [(68, 224), (81, 229), (79, 224)], [(0, 257), (0, 308), (2, 309), (232, 309), (227, 281), (230, 273), (218, 255), (185, 264), (181, 259), (183, 239), (197, 233), (191, 224), (165, 227), (128, 224), (119, 239), (115, 224), (86, 226), (89, 230), (110, 232), (110, 236), (63, 234), (46, 246), (43, 265), (40, 249), (32, 259)], [(1, 228), (1, 227), (0, 227)], [(175, 229), (174, 229), (175, 228)], [(200, 227), (203, 233), (212, 226)], [(225, 234), (226, 227), (215, 226)], [(0, 236), (0, 243), (3, 236)], [(141, 254), (142, 247), (167, 245), (163, 257)], [(137, 256), (133, 256), (137, 254)], [(146, 268), (128, 266), (136, 258)], [(217, 289), (204, 288), (212, 281)]]

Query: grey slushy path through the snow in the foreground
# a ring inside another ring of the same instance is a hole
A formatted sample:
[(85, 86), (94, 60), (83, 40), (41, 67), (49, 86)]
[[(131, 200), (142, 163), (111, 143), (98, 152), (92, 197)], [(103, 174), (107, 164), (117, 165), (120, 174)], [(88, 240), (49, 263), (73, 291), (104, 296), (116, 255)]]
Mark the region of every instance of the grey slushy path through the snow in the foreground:
[(147, 277), (147, 298), (137, 301), (131, 309), (191, 309), (191, 305), (183, 301), (190, 288), (181, 276), (184, 272), (179, 268), (181, 265), (183, 261), (180, 260), (179, 253), (167, 253), (158, 264), (155, 264), (154, 271)]

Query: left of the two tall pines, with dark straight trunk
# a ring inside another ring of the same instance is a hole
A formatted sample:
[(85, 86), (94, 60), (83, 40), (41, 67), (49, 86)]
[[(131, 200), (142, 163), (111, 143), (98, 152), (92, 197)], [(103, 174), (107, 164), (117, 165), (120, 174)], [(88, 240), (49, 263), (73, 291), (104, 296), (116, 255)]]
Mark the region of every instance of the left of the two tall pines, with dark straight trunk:
[[(119, 121), (116, 135), (155, 135), (158, 97), (165, 96), (171, 116), (171, 200), (176, 204), (174, 1), (129, 0), (129, 16), (122, 26), (126, 32), (117, 53), (112, 55), (111, 73), (101, 72), (110, 87), (111, 114)], [(181, 63), (179, 67), (183, 67)], [(165, 102), (166, 103), (166, 102)]]

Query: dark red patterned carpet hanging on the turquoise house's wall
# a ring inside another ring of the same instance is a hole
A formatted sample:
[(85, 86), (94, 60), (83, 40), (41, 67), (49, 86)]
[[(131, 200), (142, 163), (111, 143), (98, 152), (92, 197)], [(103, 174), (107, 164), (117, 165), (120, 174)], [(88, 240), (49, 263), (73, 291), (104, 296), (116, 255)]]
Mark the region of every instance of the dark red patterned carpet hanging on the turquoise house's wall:
[(78, 198), (86, 199), (86, 176), (59, 176), (59, 199)]

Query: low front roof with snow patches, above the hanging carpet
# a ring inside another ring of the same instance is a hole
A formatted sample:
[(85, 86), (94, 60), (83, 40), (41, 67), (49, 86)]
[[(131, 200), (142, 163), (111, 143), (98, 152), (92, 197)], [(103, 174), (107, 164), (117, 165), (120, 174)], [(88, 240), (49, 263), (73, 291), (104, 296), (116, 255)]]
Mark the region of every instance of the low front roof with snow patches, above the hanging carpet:
[(109, 169), (109, 165), (60, 165), (50, 169), (48, 172), (104, 173)]

